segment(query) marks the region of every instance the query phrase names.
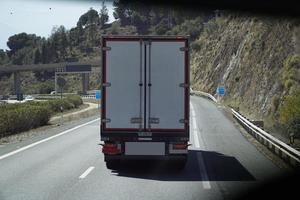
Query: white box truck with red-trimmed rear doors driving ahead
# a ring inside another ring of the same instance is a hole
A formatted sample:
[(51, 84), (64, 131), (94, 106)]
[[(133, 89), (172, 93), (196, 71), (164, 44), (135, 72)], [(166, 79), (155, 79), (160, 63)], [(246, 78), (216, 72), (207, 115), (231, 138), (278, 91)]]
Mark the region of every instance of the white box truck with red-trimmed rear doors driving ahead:
[(189, 141), (189, 40), (103, 36), (101, 141), (109, 169), (122, 159), (174, 160)]

